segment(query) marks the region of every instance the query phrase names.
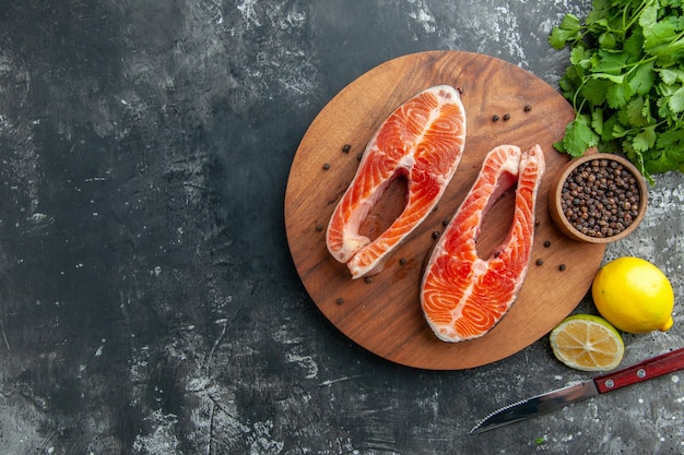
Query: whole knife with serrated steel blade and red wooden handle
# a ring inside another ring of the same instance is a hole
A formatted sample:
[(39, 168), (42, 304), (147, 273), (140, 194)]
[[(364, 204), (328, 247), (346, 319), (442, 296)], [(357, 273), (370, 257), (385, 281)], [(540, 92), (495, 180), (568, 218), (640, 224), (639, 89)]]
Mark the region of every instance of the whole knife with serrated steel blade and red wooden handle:
[(684, 347), (652, 357), (630, 367), (592, 378), (579, 384), (569, 385), (504, 406), (480, 420), (470, 430), (470, 434), (477, 434), (519, 422), (520, 420), (561, 409), (571, 403), (599, 396), (683, 369)]

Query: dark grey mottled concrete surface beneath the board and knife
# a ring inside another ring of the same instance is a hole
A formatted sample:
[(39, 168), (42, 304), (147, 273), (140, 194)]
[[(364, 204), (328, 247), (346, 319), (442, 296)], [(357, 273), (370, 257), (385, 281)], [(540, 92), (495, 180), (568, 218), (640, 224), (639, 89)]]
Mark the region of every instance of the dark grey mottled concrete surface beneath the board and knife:
[[(684, 373), (469, 435), (590, 374), (546, 339), (467, 371), (387, 362), (319, 314), (287, 251), (290, 164), (338, 91), (429, 49), (557, 86), (546, 36), (589, 5), (1, 0), (0, 453), (684, 452)], [(625, 335), (625, 364), (684, 345), (684, 178), (650, 191), (606, 260), (662, 267), (675, 325)]]

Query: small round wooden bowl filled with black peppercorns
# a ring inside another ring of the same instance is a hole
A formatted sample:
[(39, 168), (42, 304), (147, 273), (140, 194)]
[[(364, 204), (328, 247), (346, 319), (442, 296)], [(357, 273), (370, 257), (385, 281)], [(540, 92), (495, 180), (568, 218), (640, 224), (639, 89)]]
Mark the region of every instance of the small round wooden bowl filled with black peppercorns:
[(632, 234), (646, 215), (648, 193), (639, 170), (611, 153), (588, 151), (551, 182), (549, 211), (569, 238), (609, 243)]

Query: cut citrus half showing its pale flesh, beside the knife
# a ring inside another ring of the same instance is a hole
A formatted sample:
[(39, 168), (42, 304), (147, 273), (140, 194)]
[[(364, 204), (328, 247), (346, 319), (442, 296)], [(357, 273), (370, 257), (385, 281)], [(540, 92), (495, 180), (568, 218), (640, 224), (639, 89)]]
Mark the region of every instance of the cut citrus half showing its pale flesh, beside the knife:
[(551, 331), (549, 342), (558, 360), (583, 371), (613, 370), (625, 354), (620, 333), (593, 314), (566, 318)]

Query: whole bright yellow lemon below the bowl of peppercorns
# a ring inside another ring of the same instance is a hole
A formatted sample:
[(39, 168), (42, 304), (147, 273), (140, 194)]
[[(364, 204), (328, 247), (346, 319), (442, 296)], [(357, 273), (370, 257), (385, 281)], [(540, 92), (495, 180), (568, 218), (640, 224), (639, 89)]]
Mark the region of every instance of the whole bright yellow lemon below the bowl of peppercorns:
[(599, 313), (623, 332), (665, 332), (673, 324), (672, 285), (644, 259), (624, 256), (603, 265), (593, 278), (591, 296)]

